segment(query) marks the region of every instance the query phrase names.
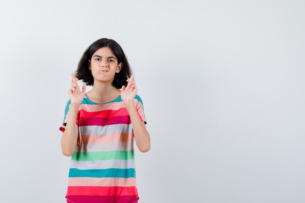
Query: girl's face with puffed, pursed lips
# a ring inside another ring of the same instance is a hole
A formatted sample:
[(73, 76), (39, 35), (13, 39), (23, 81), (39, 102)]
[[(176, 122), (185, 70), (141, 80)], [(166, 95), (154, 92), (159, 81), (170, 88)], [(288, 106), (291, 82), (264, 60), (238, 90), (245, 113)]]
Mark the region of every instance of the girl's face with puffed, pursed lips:
[(115, 73), (119, 73), (123, 63), (119, 63), (109, 47), (98, 49), (89, 60), (89, 69), (94, 80), (112, 84)]

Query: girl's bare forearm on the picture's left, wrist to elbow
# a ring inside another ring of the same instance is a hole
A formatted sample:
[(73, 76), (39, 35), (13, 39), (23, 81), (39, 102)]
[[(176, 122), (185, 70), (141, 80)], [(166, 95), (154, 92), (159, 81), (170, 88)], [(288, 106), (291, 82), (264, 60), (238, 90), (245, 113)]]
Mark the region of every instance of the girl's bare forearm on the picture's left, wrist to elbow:
[(78, 109), (79, 105), (70, 104), (69, 106), (66, 129), (61, 137), (61, 151), (65, 156), (72, 156), (76, 148), (78, 125), (75, 121)]

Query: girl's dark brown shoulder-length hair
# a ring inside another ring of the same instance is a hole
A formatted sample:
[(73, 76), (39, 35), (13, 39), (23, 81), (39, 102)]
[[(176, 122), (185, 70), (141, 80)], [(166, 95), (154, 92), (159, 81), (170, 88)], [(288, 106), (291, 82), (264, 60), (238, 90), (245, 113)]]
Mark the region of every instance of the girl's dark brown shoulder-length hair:
[(84, 54), (81, 56), (77, 70), (75, 72), (75, 76), (78, 78), (78, 80), (82, 80), (86, 85), (93, 86), (94, 78), (91, 73), (91, 70), (89, 70), (90, 62), (92, 55), (100, 48), (103, 47), (109, 47), (112, 51), (112, 53), (117, 58), (118, 64), (120, 62), (123, 63), (123, 66), (119, 73), (115, 73), (114, 75), (114, 81), (113, 86), (117, 89), (121, 89), (124, 85), (127, 86), (127, 79), (132, 75), (132, 70), (130, 68), (130, 65), (128, 63), (127, 57), (125, 56), (123, 49), (121, 46), (114, 41), (113, 39), (108, 38), (101, 38), (93, 42), (84, 52)]

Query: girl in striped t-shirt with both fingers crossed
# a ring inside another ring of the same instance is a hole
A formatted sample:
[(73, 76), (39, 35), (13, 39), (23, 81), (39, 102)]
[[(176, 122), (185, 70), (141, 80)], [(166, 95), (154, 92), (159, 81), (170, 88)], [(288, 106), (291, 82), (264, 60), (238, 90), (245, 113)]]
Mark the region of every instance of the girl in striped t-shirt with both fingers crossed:
[[(141, 152), (151, 148), (151, 141), (143, 102), (121, 46), (113, 39), (98, 39), (71, 77), (59, 128), (62, 153), (72, 156), (67, 202), (137, 203), (133, 141)], [(84, 82), (82, 91), (79, 79)], [(92, 90), (86, 92), (85, 84)]]

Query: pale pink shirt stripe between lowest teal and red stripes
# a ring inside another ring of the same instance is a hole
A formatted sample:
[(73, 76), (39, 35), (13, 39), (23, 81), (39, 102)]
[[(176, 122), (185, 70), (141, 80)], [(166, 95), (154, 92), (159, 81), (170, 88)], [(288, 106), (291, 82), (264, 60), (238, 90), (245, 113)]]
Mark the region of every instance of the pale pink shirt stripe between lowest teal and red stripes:
[(69, 186), (136, 186), (135, 178), (88, 178), (68, 179)]

